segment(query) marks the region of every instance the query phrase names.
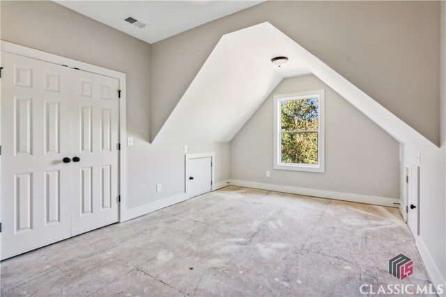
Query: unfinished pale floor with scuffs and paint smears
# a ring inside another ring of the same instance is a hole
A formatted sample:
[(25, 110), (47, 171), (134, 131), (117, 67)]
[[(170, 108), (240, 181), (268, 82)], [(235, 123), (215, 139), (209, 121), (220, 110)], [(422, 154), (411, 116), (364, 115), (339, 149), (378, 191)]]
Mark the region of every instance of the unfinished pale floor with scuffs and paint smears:
[[(399, 253), (414, 273), (387, 272)], [(229, 186), (8, 259), (2, 296), (362, 296), (427, 284), (398, 209)]]

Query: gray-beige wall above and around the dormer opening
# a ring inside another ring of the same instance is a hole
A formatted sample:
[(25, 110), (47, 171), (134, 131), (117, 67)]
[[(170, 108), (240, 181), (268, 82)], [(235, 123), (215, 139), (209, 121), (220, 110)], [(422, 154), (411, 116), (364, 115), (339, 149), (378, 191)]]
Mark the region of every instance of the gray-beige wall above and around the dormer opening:
[(151, 50), (152, 138), (222, 34), (266, 21), (439, 144), (435, 1), (268, 1), (157, 42)]

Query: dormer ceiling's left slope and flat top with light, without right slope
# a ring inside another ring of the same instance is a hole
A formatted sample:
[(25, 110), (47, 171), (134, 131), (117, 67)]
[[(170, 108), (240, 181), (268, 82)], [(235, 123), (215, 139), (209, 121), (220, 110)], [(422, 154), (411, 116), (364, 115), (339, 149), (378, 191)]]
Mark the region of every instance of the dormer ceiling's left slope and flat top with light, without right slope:
[[(153, 143), (231, 141), (284, 77), (309, 74), (293, 45), (270, 24), (226, 34)], [(286, 67), (270, 62), (288, 56)]]

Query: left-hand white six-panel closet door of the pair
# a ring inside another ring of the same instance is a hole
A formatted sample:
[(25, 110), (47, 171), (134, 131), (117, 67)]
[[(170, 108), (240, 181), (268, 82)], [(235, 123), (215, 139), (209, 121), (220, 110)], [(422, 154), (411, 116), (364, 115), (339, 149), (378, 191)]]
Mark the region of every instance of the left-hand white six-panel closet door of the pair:
[(1, 52), (1, 259), (70, 236), (70, 69)]

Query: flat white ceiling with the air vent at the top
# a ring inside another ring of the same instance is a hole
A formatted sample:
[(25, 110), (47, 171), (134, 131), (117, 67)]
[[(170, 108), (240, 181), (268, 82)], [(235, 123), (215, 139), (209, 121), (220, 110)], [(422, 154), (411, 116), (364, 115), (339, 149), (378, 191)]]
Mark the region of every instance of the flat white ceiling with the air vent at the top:
[[(153, 43), (266, 0), (54, 1), (135, 38)], [(146, 26), (138, 28), (124, 22), (123, 19), (129, 16)]]

